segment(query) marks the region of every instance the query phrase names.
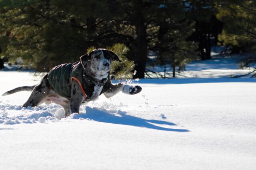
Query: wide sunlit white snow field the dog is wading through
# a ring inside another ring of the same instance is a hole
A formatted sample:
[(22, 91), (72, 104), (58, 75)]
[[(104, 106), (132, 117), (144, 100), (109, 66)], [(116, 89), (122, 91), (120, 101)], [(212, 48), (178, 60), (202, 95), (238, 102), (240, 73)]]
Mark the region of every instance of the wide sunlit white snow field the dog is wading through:
[[(101, 95), (66, 118), (56, 104), (22, 108), (30, 92), (2, 96), (0, 169), (256, 169), (256, 79), (211, 77), (140, 79), (139, 94)], [(0, 94), (40, 80), (0, 79)]]

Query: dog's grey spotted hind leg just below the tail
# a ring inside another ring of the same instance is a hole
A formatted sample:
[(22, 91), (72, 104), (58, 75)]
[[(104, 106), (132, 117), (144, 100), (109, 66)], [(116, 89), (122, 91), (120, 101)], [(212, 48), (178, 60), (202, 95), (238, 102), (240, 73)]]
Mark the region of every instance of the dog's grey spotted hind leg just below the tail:
[(44, 103), (44, 98), (48, 95), (50, 90), (50, 84), (48, 82), (47, 77), (48, 75), (45, 75), (41, 82), (38, 85), (36, 85), (30, 97), (28, 98), (28, 101), (26, 101), (26, 103), (24, 103), (22, 107), (35, 107)]

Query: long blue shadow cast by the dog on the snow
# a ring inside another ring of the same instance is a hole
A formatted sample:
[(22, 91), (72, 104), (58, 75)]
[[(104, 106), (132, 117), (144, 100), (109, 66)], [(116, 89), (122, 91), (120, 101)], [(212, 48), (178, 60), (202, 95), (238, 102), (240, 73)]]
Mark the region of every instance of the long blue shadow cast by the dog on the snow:
[(98, 108), (90, 108), (86, 107), (86, 114), (73, 114), (72, 119), (93, 119), (94, 121), (104, 122), (104, 123), (114, 123), (119, 125), (130, 125), (135, 127), (144, 127), (151, 128), (156, 130), (166, 130), (166, 131), (174, 131), (174, 132), (189, 132), (187, 129), (175, 129), (175, 128), (166, 128), (160, 127), (158, 125), (168, 125), (168, 126), (176, 126), (174, 123), (170, 123), (167, 121), (158, 121), (152, 119), (142, 119), (130, 115), (126, 115), (127, 112), (118, 111), (118, 115), (114, 115), (107, 110), (98, 109)]

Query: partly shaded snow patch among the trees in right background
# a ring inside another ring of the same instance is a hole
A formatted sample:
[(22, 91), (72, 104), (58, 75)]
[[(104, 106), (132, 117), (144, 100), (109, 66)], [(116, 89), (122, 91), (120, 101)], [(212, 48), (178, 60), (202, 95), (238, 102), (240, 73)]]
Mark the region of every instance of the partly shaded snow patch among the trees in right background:
[[(219, 55), (218, 52), (212, 52), (211, 60), (193, 61), (186, 65), (186, 71), (176, 73), (178, 78), (230, 78), (235, 75), (244, 75), (251, 72), (251, 68), (239, 68), (239, 62), (242, 55)], [(256, 65), (255, 65), (256, 67)], [(164, 75), (164, 69), (160, 66), (149, 67), (150, 70)], [(178, 68), (176, 68), (178, 70)], [(157, 78), (154, 73), (148, 72), (150, 77)], [(248, 75), (247, 77), (250, 77)], [(148, 76), (146, 76), (148, 77)], [(166, 68), (166, 77), (172, 77), (172, 68)]]

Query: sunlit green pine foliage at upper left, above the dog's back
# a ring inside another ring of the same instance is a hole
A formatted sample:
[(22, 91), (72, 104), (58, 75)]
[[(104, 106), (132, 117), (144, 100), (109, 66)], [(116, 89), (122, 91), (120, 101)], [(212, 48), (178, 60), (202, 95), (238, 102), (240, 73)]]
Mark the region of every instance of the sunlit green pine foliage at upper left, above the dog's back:
[[(70, 8), (73, 2), (76, 5)], [(1, 36), (8, 37), (6, 56), (10, 61), (20, 57), (25, 66), (48, 71), (55, 65), (76, 61), (89, 46), (111, 45), (103, 25), (94, 30), (91, 19), (97, 16), (90, 13), (93, 7), (100, 9), (101, 5), (99, 1), (82, 0), (17, 0), (5, 4), (0, 9), (0, 28)]]

